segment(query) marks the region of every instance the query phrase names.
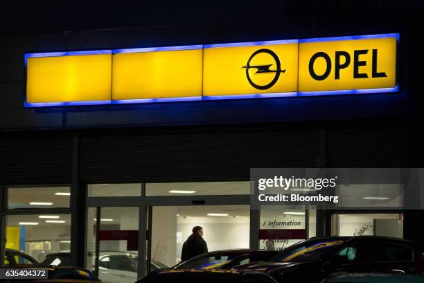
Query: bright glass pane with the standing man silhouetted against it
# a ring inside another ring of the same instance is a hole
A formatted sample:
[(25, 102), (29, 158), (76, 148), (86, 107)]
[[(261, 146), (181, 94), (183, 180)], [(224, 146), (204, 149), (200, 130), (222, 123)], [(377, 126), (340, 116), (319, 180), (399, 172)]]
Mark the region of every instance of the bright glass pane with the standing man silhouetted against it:
[[(151, 257), (175, 266), (182, 260), (184, 242), (195, 226), (202, 227), (209, 252), (249, 248), (249, 223), (249, 205), (153, 207)], [(199, 255), (203, 249), (197, 252)]]

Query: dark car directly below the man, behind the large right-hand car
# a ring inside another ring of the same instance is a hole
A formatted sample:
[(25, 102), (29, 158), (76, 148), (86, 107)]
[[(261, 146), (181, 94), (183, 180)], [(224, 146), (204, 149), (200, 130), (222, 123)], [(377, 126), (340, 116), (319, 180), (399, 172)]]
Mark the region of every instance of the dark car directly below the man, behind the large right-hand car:
[(274, 257), (279, 252), (276, 250), (218, 250), (206, 252), (173, 266), (174, 269), (230, 269), (240, 264), (251, 264)]

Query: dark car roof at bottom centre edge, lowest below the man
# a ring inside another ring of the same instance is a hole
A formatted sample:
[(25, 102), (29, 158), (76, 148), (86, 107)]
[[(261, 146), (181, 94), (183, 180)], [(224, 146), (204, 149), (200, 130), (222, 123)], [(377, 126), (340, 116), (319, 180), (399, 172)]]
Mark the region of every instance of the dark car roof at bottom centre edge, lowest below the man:
[(276, 283), (266, 273), (256, 271), (229, 271), (224, 269), (197, 270), (197, 269), (166, 269), (149, 273), (136, 283)]

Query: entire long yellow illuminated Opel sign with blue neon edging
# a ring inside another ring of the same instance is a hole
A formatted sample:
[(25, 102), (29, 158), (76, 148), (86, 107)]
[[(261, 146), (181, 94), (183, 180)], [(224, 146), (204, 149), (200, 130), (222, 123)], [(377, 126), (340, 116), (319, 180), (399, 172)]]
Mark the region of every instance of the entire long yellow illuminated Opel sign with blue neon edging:
[(26, 54), (28, 107), (396, 92), (398, 34)]

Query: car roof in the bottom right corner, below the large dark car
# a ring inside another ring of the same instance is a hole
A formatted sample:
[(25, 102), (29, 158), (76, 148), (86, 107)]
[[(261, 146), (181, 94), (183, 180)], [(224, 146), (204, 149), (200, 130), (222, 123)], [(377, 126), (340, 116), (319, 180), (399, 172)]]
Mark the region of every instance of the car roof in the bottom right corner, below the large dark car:
[(424, 275), (385, 273), (343, 273), (333, 275), (322, 283), (422, 283)]

